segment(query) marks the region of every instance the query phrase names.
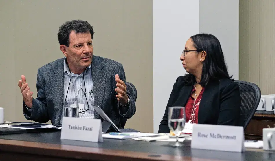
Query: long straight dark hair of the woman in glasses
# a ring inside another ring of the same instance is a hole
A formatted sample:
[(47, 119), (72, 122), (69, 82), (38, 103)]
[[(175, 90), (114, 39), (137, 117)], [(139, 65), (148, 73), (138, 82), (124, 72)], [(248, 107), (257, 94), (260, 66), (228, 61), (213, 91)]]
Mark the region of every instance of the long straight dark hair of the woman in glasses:
[[(190, 38), (197, 50), (206, 52), (206, 58), (203, 62), (201, 72), (201, 81), (197, 83), (205, 86), (210, 80), (219, 81), (222, 78), (232, 78), (232, 76), (228, 74), (221, 44), (217, 37), (211, 34), (201, 33)], [(193, 74), (187, 74), (185, 76), (185, 83), (188, 85), (195, 83), (195, 76)]]

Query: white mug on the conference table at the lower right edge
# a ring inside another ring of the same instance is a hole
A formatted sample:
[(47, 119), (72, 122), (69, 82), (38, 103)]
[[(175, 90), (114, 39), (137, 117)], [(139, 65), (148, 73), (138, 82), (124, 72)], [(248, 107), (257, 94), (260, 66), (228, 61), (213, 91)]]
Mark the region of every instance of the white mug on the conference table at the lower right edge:
[(263, 128), (263, 149), (275, 150), (275, 128)]

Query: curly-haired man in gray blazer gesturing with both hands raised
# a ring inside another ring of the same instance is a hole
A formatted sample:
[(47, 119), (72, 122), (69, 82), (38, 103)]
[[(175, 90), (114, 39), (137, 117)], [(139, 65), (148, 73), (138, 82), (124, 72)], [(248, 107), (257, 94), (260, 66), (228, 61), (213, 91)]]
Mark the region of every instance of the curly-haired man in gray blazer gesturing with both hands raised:
[(121, 63), (93, 55), (93, 27), (82, 20), (59, 27), (58, 41), (65, 58), (38, 69), (37, 98), (26, 83), (18, 82), (26, 119), (60, 125), (63, 102), (78, 101), (80, 118), (102, 119), (91, 104), (98, 105), (121, 128), (120, 118), (135, 114), (135, 101), (127, 92)]

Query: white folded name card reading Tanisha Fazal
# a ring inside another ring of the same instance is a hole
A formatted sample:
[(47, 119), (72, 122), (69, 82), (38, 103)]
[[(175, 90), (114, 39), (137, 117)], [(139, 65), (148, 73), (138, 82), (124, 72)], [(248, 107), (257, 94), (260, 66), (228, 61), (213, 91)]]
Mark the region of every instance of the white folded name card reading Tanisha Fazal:
[(103, 142), (101, 120), (63, 117), (61, 139)]

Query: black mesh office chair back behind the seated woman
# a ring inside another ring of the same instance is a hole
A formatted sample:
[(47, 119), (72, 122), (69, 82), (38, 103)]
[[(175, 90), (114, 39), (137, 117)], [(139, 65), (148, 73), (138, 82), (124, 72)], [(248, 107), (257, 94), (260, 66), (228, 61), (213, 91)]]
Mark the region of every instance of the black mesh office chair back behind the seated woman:
[(239, 126), (247, 127), (260, 103), (261, 90), (258, 85), (246, 81), (234, 80), (239, 85), (241, 96), (241, 118)]

